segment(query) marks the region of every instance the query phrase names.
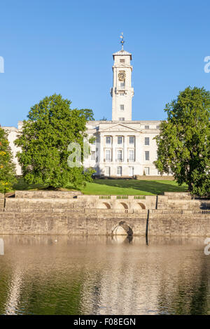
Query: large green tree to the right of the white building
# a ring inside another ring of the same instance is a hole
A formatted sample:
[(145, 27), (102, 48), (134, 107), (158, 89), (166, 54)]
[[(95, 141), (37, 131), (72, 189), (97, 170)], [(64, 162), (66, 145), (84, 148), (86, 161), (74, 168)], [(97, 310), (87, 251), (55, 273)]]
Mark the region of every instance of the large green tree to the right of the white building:
[(158, 160), (161, 174), (171, 169), (174, 179), (195, 195), (210, 193), (210, 92), (187, 87), (166, 105), (167, 120), (160, 125)]

